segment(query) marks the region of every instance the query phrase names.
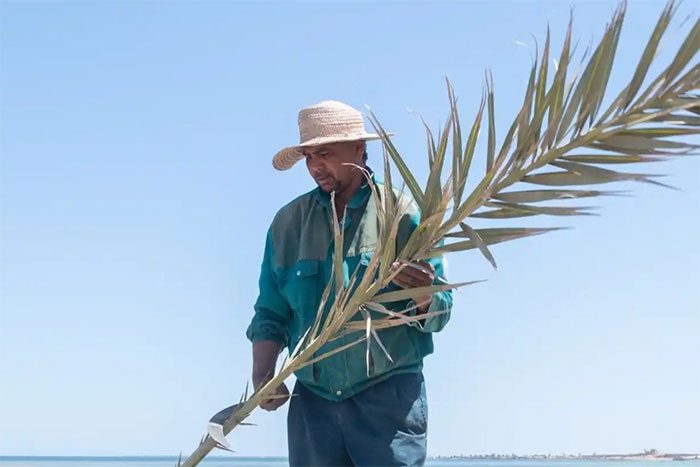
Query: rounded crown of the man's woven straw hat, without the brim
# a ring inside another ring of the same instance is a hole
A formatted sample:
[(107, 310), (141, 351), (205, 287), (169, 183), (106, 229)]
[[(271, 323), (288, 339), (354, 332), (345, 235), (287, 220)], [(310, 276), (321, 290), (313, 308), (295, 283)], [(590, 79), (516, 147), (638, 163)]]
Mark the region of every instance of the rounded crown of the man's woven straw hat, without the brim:
[(366, 134), (359, 110), (338, 101), (322, 101), (299, 111), (300, 144), (316, 138)]

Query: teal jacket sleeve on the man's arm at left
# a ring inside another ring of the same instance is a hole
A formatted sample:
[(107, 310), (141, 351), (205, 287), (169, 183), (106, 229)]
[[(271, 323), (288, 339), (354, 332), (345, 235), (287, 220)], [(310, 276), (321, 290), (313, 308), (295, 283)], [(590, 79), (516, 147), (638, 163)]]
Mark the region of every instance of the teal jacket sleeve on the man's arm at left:
[(286, 347), (289, 345), (288, 324), (292, 312), (279, 289), (273, 269), (273, 255), (272, 235), (268, 230), (258, 281), (259, 295), (254, 306), (255, 314), (246, 330), (246, 337), (251, 342), (272, 340)]

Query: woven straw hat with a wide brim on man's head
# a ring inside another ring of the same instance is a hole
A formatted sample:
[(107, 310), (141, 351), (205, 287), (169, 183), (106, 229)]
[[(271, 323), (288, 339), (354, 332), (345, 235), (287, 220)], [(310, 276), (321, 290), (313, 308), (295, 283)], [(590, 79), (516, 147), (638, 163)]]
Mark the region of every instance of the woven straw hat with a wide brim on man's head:
[(304, 158), (302, 151), (310, 146), (379, 138), (378, 134), (365, 131), (359, 110), (338, 101), (322, 101), (299, 111), (299, 144), (275, 154), (272, 166), (277, 170), (290, 169)]

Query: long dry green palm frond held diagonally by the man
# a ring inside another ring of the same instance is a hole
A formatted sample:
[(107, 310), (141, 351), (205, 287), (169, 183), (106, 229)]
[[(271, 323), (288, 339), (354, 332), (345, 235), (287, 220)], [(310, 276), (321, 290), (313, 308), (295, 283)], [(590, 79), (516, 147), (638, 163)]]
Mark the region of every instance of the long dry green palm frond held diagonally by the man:
[[(590, 57), (584, 53), (583, 72), (570, 83), (567, 79), (574, 76), (570, 70), (574, 55), (573, 14), (549, 84), (551, 43), (548, 29), (541, 57), (535, 54), (523, 103), (498, 150), (494, 80), (491, 74), (487, 73), (485, 96), (466, 140), (462, 137), (457, 98), (448, 81), (449, 118), (445, 127), (437, 133), (437, 144), (432, 131), (425, 126), (430, 173), (424, 188), (379, 119), (370, 112), (370, 122), (382, 139), (385, 171), (383, 187), (372, 184), (372, 199), (379, 221), (379, 244), (375, 254), (362, 277), (355, 273), (346, 281), (342, 272), (342, 229), (339, 228), (338, 213), (334, 212), (333, 278), (323, 294), (318, 317), (299, 345), (291, 351), (281, 370), (265, 385), (257, 388), (250, 398), (245, 395), (245, 402), (223, 425), (224, 433), (242, 424), (263, 400), (269, 398), (299, 368), (362, 342), (369, 345), (371, 339), (375, 339), (388, 355), (388, 349), (381, 344), (378, 330), (419, 325), (419, 319), (444, 313), (444, 310), (431, 311), (417, 318), (407, 312), (389, 311), (382, 303), (415, 299), (478, 282), (382, 291), (397, 274), (390, 267), (395, 261), (402, 264), (401, 267), (407, 267), (406, 264), (417, 259), (478, 249), (495, 267), (489, 245), (558, 230), (531, 227), (474, 229), (467, 223), (468, 219), (591, 215), (592, 207), (552, 206), (547, 203), (624, 194), (617, 190), (580, 188), (587, 185), (633, 181), (668, 186), (654, 180), (658, 175), (612, 170), (600, 165), (624, 168), (625, 164), (644, 163), (649, 166), (672, 157), (684, 157), (698, 149), (697, 144), (679, 138), (700, 133), (700, 64), (692, 64), (700, 48), (700, 20), (691, 26), (668, 66), (644, 87), (657, 57), (659, 44), (676, 9), (675, 1), (667, 3), (629, 82), (602, 113), (601, 107), (608, 94), (618, 53), (626, 3), (622, 3), (614, 12), (600, 42), (591, 48)], [(472, 165), (484, 110), (488, 127), (485, 170), (472, 191), (465, 196), (467, 182), (475, 174)], [(447, 155), (448, 149), (451, 157)], [(451, 167), (445, 176), (448, 159)], [(411, 200), (402, 190), (394, 189), (390, 162), (408, 188)], [(528, 185), (530, 188), (531, 185), (556, 188), (527, 189)], [(411, 203), (420, 209), (420, 224), (401, 251), (396, 251), (398, 224)], [(454, 239), (457, 241), (451, 241)], [(326, 315), (325, 309), (328, 309)], [(370, 317), (367, 310), (385, 317)], [(361, 335), (357, 339), (318, 354), (327, 342), (339, 336), (358, 333)], [(197, 465), (216, 447), (216, 442), (211, 438), (204, 439), (195, 452), (178, 465)]]

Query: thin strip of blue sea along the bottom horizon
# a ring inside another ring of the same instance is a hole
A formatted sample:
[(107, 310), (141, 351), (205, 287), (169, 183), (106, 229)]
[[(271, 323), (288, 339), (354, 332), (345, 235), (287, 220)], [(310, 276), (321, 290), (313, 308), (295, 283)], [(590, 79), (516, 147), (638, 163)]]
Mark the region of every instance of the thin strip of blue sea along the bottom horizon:
[[(0, 467), (174, 467), (177, 457), (28, 457), (0, 456)], [(284, 467), (284, 457), (214, 457), (200, 463), (203, 467)], [(429, 459), (426, 467), (700, 467), (690, 461), (598, 461), (598, 460), (525, 460), (525, 459)]]

